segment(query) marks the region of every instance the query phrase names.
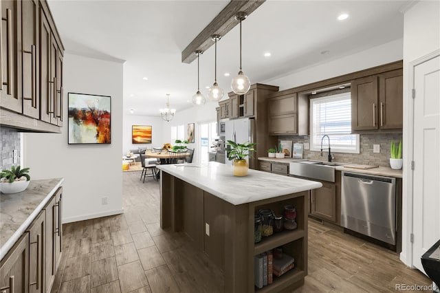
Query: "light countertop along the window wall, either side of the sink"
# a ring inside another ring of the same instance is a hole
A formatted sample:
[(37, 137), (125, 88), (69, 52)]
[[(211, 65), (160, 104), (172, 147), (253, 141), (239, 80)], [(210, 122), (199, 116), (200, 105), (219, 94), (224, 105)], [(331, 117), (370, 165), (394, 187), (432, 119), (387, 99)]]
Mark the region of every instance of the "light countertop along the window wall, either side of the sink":
[[(268, 158), (268, 157), (261, 157), (258, 159), (260, 161), (274, 162), (274, 163), (281, 163), (281, 164), (289, 164), (289, 162), (299, 162), (299, 161), (306, 161), (307, 160), (307, 159), (292, 159), (292, 158), (276, 159), (276, 158)], [(316, 160), (312, 160), (312, 161), (316, 161)], [(316, 161), (316, 162), (318, 162), (318, 161)], [(322, 161), (322, 162), (325, 162), (325, 161)], [(360, 168), (360, 167), (366, 166), (366, 165), (341, 163), (341, 162), (334, 162), (334, 163), (341, 165), (341, 166), (336, 167), (336, 171), (346, 171), (346, 172), (362, 173), (362, 174), (378, 175), (378, 176), (388, 176), (388, 177), (395, 177), (395, 178), (402, 177), (401, 170), (391, 169), (390, 167), (379, 166), (379, 167), (376, 167), (373, 169), (356, 169), (356, 168), (349, 168), (347, 166), (353, 166), (353, 167)]]

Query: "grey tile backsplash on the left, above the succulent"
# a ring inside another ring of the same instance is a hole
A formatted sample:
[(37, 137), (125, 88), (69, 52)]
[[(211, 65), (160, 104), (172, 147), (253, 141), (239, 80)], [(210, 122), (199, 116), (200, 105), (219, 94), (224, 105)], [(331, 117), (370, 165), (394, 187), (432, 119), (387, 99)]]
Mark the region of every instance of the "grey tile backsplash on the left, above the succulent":
[(10, 169), (14, 149), (17, 150), (17, 162), (20, 162), (20, 133), (17, 129), (0, 127), (0, 135), (1, 170)]

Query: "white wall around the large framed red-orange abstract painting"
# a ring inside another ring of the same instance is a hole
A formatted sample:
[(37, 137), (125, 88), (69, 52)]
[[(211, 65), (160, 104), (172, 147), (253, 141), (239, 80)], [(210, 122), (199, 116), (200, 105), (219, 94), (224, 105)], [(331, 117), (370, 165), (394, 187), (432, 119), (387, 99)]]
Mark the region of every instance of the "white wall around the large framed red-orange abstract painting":
[[(25, 133), (25, 166), (33, 180), (64, 177), (63, 222), (122, 213), (123, 65), (64, 56), (64, 126), (61, 134)], [(67, 144), (67, 93), (111, 96), (111, 144)], [(101, 204), (108, 197), (108, 204)]]

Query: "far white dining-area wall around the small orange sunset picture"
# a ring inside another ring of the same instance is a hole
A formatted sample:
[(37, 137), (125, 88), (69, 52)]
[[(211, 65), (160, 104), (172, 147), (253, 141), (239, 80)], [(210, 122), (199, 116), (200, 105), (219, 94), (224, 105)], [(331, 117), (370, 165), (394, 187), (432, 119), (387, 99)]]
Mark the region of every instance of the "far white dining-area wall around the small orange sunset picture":
[[(124, 131), (122, 134), (122, 154), (125, 155), (131, 149), (151, 149), (153, 146), (162, 146), (164, 144), (163, 125), (166, 121), (155, 116), (124, 115)], [(131, 127), (133, 125), (151, 125), (151, 144), (132, 144)]]

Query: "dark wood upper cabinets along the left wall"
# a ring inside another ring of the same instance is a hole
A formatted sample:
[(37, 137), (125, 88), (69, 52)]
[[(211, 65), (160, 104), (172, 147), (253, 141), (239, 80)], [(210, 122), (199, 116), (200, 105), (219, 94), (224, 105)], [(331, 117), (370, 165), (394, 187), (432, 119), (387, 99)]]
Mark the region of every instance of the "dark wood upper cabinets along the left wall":
[(63, 52), (44, 0), (1, 1), (0, 123), (61, 132)]

